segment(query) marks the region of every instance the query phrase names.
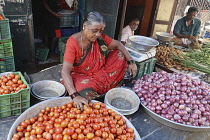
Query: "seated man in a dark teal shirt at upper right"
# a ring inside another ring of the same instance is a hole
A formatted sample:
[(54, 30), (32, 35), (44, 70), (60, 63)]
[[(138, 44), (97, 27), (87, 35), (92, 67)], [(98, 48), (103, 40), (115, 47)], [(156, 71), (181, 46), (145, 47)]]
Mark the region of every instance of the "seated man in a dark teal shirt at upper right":
[(173, 40), (175, 45), (188, 46), (197, 48), (196, 45), (201, 47), (202, 42), (199, 39), (201, 21), (196, 18), (198, 9), (190, 7), (187, 15), (179, 19), (175, 26), (173, 34), (176, 38)]

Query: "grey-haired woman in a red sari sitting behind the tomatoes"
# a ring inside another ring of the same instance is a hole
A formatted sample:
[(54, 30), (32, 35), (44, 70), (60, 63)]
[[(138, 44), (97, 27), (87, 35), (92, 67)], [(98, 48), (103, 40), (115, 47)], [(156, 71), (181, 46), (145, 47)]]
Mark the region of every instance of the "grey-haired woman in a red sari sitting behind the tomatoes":
[(98, 12), (90, 12), (83, 30), (66, 43), (62, 78), (74, 106), (105, 94), (122, 83), (128, 67), (133, 76), (137, 67), (126, 48), (102, 33), (105, 22)]

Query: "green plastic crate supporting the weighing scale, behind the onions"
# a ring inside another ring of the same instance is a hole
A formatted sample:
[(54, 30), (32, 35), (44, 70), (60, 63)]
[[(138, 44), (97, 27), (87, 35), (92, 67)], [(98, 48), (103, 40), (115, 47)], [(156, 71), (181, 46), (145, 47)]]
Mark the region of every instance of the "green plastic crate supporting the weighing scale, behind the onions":
[(156, 59), (150, 58), (148, 60), (145, 60), (143, 62), (136, 62), (137, 65), (137, 74), (134, 77), (135, 80), (141, 78), (145, 74), (150, 74), (154, 71), (155, 68)]

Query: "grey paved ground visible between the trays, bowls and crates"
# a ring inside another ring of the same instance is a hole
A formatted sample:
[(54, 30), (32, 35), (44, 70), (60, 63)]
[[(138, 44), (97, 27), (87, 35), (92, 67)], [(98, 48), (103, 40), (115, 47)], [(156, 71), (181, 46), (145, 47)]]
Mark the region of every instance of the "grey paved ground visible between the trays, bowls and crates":
[[(56, 65), (35, 74), (30, 74), (31, 83), (39, 80), (55, 80), (59, 81), (61, 66)], [(31, 98), (32, 102), (34, 99)], [(6, 140), (10, 127), (18, 116), (12, 116), (0, 119), (0, 140)], [(126, 116), (139, 132), (142, 140), (210, 140), (210, 131), (204, 132), (187, 132), (176, 130), (165, 126), (152, 119), (144, 112), (142, 106), (140, 109)]]

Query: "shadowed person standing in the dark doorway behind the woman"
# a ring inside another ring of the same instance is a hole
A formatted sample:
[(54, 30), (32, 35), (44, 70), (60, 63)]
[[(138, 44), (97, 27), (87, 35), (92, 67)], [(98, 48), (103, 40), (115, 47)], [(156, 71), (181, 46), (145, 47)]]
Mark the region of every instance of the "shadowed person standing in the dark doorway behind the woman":
[(55, 57), (55, 46), (58, 41), (56, 30), (60, 29), (60, 18), (62, 15), (58, 13), (57, 0), (43, 0), (45, 7), (44, 13), (44, 29), (45, 29), (45, 45), (49, 47), (50, 58)]

